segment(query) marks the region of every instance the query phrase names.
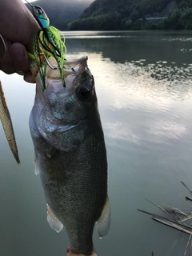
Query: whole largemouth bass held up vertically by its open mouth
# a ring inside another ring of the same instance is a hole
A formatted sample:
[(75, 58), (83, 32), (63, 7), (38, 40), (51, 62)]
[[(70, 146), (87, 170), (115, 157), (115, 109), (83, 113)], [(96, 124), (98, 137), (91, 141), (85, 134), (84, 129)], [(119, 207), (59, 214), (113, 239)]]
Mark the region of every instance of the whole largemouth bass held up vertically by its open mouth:
[[(70, 238), (67, 256), (96, 256), (92, 235), (110, 227), (107, 160), (102, 124), (87, 58), (65, 62), (66, 90), (58, 70), (48, 68), (46, 90), (36, 78), (30, 114), (35, 174), (40, 174), (47, 221)], [(72, 67), (72, 68), (71, 68)]]

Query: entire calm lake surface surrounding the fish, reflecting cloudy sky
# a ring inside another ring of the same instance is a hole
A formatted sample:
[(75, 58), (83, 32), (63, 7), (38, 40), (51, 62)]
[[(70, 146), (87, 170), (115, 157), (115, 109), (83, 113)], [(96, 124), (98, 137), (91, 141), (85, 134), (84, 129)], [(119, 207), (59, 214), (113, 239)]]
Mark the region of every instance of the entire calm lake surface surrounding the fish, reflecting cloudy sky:
[[(112, 222), (106, 238), (94, 232), (98, 256), (150, 256), (152, 250), (182, 256), (188, 236), (137, 209), (162, 214), (148, 198), (191, 210), (180, 181), (192, 189), (192, 32), (65, 34), (68, 58), (89, 57), (106, 138)], [(1, 126), (1, 255), (65, 255), (66, 231), (50, 229), (34, 175), (28, 128), (34, 84), (17, 74), (0, 77), (22, 162), (17, 166)]]

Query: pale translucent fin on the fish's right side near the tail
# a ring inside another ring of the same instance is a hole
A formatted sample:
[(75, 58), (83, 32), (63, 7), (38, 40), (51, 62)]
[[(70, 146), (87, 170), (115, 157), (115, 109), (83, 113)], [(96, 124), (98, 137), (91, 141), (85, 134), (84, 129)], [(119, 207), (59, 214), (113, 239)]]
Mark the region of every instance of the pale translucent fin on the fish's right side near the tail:
[(110, 200), (106, 197), (106, 203), (102, 209), (102, 214), (97, 221), (99, 238), (105, 237), (110, 230)]

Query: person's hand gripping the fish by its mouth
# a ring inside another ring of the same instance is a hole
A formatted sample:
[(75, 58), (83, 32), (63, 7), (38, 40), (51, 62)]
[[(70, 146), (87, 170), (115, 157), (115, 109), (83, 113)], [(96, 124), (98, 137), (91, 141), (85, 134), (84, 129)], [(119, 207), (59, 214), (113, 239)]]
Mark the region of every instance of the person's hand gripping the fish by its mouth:
[[(0, 69), (6, 74), (16, 72), (24, 75), (26, 82), (30, 82), (30, 61), (26, 49), (32, 51), (34, 34), (39, 29), (38, 22), (21, 0), (1, 0), (0, 8), (0, 34), (6, 45), (6, 52), (2, 56), (3, 47), (0, 44)], [(8, 20), (7, 13), (10, 17)]]

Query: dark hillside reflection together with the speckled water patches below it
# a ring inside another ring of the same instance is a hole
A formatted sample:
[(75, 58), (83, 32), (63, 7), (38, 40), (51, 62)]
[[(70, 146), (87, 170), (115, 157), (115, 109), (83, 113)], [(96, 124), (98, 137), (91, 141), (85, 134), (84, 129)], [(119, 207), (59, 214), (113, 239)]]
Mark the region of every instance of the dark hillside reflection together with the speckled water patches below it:
[[(66, 38), (67, 50), (74, 54), (102, 54), (110, 60), (122, 77), (152, 78), (150, 82), (180, 90), (191, 90), (192, 38), (184, 32), (127, 32), (92, 34), (88, 38)], [(154, 82), (153, 82), (154, 80)]]

